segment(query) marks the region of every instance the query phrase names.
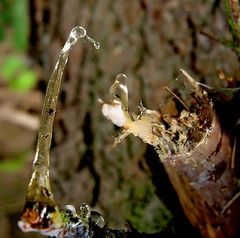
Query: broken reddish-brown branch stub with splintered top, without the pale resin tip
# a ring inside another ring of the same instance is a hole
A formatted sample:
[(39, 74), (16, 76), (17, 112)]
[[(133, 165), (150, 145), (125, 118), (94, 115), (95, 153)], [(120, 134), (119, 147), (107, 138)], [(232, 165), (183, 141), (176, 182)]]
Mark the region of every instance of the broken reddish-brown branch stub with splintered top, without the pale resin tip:
[(230, 166), (231, 138), (221, 128), (207, 92), (183, 74), (191, 86), (189, 112), (167, 120), (163, 116), (164, 134), (154, 127), (153, 133), (159, 133), (154, 147), (192, 225), (204, 237), (237, 237), (240, 199)]

